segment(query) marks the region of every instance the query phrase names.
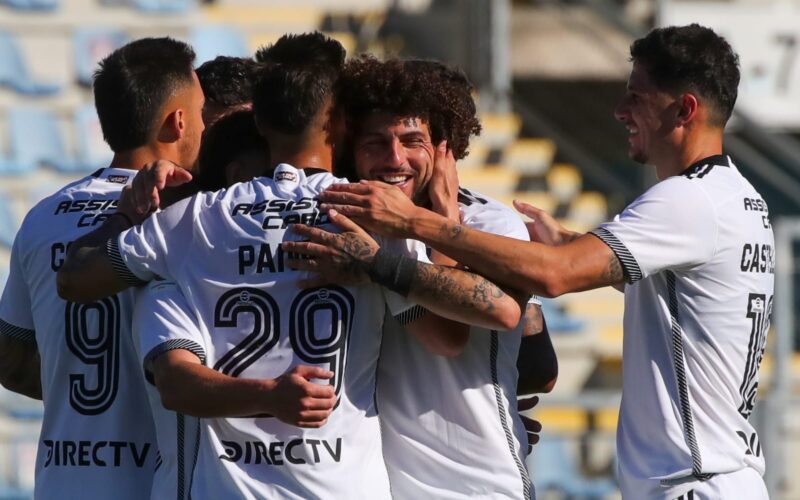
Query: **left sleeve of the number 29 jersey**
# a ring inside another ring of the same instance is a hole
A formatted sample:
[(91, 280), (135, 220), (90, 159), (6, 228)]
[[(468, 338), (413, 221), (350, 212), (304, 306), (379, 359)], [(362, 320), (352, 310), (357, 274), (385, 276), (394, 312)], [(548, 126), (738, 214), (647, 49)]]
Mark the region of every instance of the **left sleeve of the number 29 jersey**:
[(196, 198), (157, 212), (108, 241), (108, 258), (119, 276), (131, 285), (141, 285), (156, 276), (174, 278), (172, 264), (186, 255), (192, 241)]

